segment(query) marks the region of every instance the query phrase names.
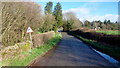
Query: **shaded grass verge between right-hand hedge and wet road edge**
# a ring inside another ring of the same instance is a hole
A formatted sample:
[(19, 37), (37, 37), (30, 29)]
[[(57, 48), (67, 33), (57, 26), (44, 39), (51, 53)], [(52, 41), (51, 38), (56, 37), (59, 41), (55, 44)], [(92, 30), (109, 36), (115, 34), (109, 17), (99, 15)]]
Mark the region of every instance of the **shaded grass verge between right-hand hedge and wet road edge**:
[(105, 54), (108, 54), (109, 56), (115, 58), (116, 60), (120, 62), (120, 48), (102, 44), (94, 40), (86, 39), (79, 35), (75, 35), (75, 34), (72, 34), (72, 35), (82, 40), (83, 42), (89, 44), (91, 47), (95, 48), (96, 50), (101, 51)]

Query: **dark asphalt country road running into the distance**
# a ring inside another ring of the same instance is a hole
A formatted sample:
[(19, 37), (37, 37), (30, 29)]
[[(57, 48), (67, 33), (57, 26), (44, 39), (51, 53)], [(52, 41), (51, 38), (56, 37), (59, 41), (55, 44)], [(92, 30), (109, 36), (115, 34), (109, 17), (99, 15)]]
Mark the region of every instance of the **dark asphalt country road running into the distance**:
[(40, 57), (31, 66), (113, 66), (88, 45), (62, 33), (57, 48)]

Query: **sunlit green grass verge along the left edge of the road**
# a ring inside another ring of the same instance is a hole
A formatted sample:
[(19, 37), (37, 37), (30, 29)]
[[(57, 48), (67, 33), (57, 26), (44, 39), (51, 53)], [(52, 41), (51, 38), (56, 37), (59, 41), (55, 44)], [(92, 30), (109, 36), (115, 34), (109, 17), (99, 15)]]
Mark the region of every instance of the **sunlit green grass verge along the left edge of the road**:
[(62, 35), (59, 33), (56, 33), (55, 36), (50, 39), (47, 43), (43, 44), (40, 47), (34, 48), (31, 50), (31, 52), (22, 52), (21, 54), (14, 56), (11, 59), (3, 61), (4, 64), (7, 64), (5, 66), (27, 66), (30, 62), (32, 62), (37, 56), (43, 55), (46, 52), (48, 52), (50, 49), (52, 49), (62, 38)]

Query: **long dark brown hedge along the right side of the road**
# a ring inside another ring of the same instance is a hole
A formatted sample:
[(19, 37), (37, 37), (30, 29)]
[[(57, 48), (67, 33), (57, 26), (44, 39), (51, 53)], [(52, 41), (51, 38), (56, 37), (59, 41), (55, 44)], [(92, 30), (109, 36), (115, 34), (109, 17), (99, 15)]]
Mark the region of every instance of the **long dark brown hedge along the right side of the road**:
[(103, 33), (96, 32), (84, 32), (83, 30), (74, 30), (71, 32), (87, 39), (96, 40), (99, 42), (110, 44), (112, 46), (114, 45), (120, 47), (118, 42), (120, 41), (120, 35), (106, 35)]

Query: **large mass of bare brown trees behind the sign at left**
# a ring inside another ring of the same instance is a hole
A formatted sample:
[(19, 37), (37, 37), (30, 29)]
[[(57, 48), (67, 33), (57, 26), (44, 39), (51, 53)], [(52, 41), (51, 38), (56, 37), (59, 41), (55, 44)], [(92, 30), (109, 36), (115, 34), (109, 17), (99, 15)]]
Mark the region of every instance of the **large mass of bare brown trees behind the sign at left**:
[(14, 45), (28, 39), (28, 26), (37, 32), (43, 19), (40, 5), (34, 2), (2, 2), (2, 43)]

